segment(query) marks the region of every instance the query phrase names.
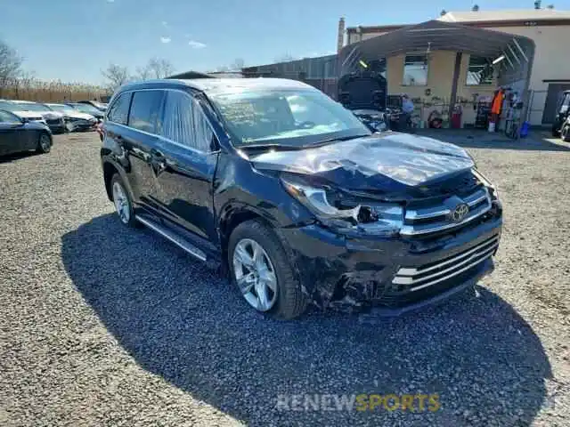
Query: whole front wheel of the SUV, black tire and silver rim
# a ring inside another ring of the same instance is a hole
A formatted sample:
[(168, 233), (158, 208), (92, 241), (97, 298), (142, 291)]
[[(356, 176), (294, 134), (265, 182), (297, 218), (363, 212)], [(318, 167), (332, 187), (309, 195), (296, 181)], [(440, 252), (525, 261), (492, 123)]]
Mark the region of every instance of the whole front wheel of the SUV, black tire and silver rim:
[(274, 231), (260, 221), (242, 222), (228, 247), (232, 283), (250, 306), (274, 318), (301, 315), (307, 298)]

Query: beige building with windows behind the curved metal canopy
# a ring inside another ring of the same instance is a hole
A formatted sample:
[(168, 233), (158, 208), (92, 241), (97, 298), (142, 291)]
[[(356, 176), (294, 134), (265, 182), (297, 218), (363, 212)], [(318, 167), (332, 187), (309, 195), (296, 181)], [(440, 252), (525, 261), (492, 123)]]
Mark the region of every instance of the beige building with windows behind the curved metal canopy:
[[(570, 12), (555, 10), (520, 10), (490, 12), (448, 12), (440, 21), (460, 24), (469, 28), (485, 28), (513, 36), (522, 36), (534, 42), (533, 58), (528, 59), (530, 72), (527, 80), (526, 101), (530, 105), (529, 117), (532, 125), (544, 125), (554, 116), (558, 93), (570, 89), (570, 60), (568, 40), (570, 40)], [(339, 31), (344, 27), (341, 20)], [(406, 25), (346, 28), (346, 44), (355, 44), (372, 37), (409, 28)], [(426, 40), (429, 40), (427, 36)], [(339, 44), (342, 38), (339, 37)], [(412, 98), (423, 102), (436, 99), (449, 100), (452, 82), (456, 73), (457, 50), (431, 50), (427, 48), (415, 52), (398, 52), (387, 56), (383, 62), (386, 72), (388, 93), (409, 93)], [(515, 43), (516, 44), (516, 43)], [(339, 47), (341, 47), (339, 45)], [(498, 68), (516, 68), (525, 53), (518, 52), (511, 45), (505, 48), (503, 64), (489, 64), (496, 58), (480, 57), (463, 52), (460, 55), (460, 69), (456, 99), (465, 106), (473, 106), (473, 101), (491, 96), (499, 85)], [(517, 63), (518, 61), (518, 63)], [(487, 66), (485, 68), (485, 65)], [(485, 68), (485, 73), (481, 70)], [(433, 103), (433, 102), (428, 102)], [(475, 121), (473, 108), (463, 109), (463, 124)], [(426, 119), (429, 111), (422, 111)]]

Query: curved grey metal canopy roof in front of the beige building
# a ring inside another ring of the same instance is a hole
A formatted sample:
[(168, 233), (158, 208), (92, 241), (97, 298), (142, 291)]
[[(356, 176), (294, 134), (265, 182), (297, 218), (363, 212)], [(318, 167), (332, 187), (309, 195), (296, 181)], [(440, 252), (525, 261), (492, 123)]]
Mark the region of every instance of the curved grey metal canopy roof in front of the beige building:
[(339, 52), (339, 60), (344, 74), (359, 58), (378, 59), (406, 52), (427, 52), (428, 49), (466, 52), (492, 59), (507, 52), (509, 60), (517, 64), (520, 60), (533, 57), (534, 42), (528, 37), (501, 31), (428, 20), (382, 36), (348, 44)]

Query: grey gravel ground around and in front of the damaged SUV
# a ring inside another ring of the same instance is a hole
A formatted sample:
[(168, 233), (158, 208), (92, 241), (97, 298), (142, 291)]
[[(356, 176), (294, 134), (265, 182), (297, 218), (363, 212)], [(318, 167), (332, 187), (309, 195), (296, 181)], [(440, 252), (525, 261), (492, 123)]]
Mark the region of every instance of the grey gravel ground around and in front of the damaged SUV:
[[(94, 133), (0, 160), (0, 425), (570, 425), (570, 145), (473, 141), (506, 212), (497, 268), (395, 319), (248, 310), (119, 224)], [(303, 393), (436, 393), (441, 408), (276, 407)]]

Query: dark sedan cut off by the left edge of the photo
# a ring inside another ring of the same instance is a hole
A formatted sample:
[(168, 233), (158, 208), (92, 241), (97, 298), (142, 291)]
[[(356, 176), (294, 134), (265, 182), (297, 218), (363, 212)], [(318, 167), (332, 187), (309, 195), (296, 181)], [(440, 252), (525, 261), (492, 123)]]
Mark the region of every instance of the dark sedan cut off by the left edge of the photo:
[(29, 149), (48, 153), (52, 142), (52, 132), (47, 125), (0, 109), (0, 156)]

